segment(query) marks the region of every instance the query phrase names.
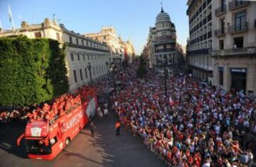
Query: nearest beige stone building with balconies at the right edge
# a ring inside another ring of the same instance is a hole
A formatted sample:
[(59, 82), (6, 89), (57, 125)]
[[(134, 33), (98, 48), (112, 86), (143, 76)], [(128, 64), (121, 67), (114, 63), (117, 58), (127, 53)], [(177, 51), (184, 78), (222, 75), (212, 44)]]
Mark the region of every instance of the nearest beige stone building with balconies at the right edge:
[(218, 0), (213, 8), (213, 84), (256, 95), (256, 1)]

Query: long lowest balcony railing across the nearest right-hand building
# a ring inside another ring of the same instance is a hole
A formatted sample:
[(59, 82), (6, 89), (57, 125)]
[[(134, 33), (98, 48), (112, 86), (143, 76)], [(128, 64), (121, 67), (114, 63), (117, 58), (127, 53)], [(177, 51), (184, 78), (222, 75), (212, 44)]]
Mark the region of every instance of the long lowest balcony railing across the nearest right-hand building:
[(214, 56), (238, 55), (238, 54), (255, 54), (256, 47), (241, 47), (229, 50), (214, 50)]

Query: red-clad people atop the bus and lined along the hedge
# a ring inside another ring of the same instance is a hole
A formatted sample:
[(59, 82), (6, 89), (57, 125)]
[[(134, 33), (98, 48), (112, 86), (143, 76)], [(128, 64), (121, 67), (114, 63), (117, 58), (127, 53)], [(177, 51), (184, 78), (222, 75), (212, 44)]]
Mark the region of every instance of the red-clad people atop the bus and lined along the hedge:
[(23, 107), (17, 110), (2, 111), (0, 113), (0, 125), (4, 127), (13, 122), (21, 120), (46, 120), (53, 123), (57, 117), (77, 107), (83, 101), (95, 95), (95, 88), (91, 86), (82, 86), (74, 93), (65, 93), (63, 96), (53, 99), (49, 103), (41, 105), (33, 104), (30, 108)]

